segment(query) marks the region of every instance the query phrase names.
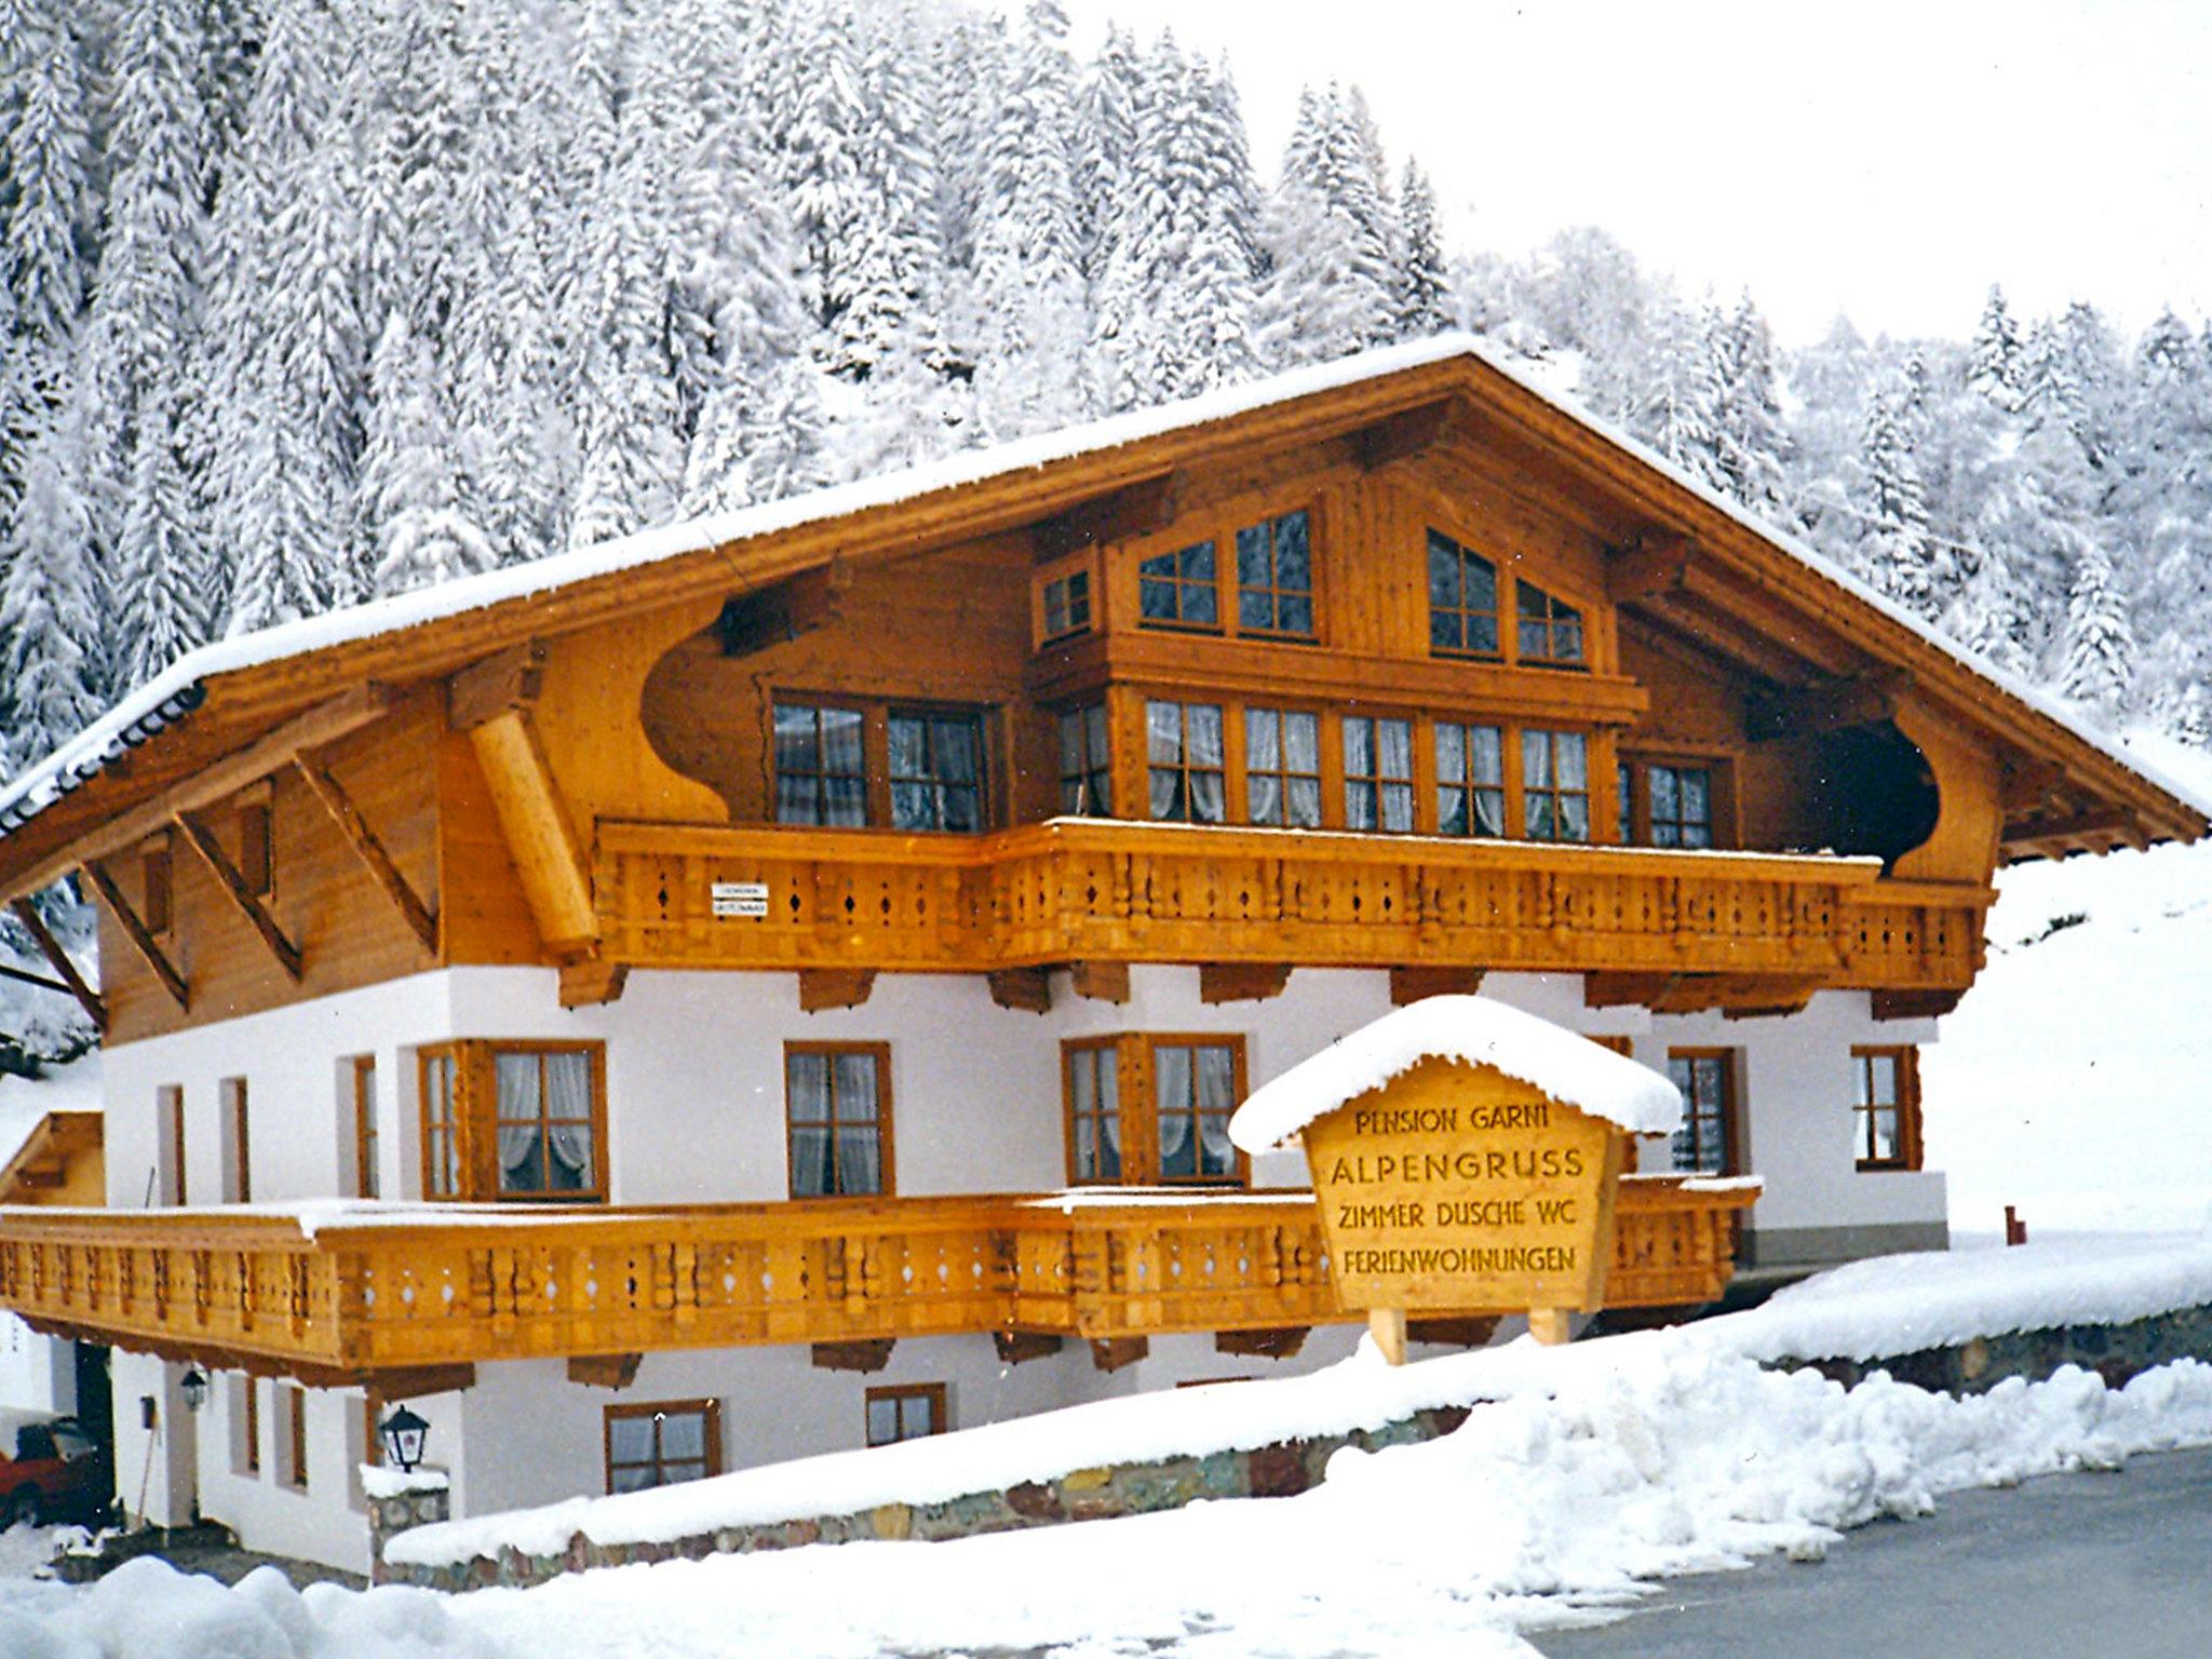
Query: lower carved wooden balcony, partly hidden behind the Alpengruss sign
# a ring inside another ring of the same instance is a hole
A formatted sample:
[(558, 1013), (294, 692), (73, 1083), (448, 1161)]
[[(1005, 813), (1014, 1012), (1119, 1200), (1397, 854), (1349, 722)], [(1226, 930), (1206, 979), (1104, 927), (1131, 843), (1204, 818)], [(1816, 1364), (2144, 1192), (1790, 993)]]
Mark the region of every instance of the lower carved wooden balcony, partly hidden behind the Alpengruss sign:
[[(1756, 1186), (1628, 1177), (1606, 1301), (1712, 1301)], [(201, 1365), (363, 1383), (513, 1358), (1343, 1321), (1312, 1192), (668, 1210), (0, 1210), (0, 1305)], [(1511, 1310), (1467, 1310), (1469, 1314)]]

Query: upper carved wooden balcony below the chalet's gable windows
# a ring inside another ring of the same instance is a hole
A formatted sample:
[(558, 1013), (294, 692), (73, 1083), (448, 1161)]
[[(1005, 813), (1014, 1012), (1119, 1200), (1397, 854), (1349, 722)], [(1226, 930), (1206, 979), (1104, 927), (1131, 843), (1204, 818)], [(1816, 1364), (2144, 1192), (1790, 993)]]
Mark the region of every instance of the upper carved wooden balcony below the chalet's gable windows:
[[(714, 889), (765, 916), (714, 916)], [(1964, 989), (1991, 894), (1874, 858), (1055, 818), (989, 836), (597, 825), (608, 962), (1290, 962)]]

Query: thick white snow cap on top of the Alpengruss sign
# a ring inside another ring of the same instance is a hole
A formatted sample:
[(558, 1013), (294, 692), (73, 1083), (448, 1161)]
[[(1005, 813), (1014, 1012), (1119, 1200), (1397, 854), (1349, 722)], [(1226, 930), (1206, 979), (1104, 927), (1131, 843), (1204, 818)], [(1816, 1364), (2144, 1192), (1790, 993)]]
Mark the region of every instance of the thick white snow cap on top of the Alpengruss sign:
[(1635, 1135), (1668, 1135), (1681, 1124), (1681, 1091), (1657, 1071), (1504, 1002), (1447, 995), (1385, 1013), (1261, 1084), (1230, 1119), (1230, 1139), (1265, 1152), (1422, 1060), (1495, 1066)]

